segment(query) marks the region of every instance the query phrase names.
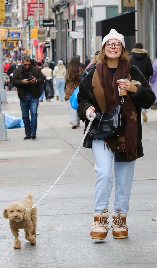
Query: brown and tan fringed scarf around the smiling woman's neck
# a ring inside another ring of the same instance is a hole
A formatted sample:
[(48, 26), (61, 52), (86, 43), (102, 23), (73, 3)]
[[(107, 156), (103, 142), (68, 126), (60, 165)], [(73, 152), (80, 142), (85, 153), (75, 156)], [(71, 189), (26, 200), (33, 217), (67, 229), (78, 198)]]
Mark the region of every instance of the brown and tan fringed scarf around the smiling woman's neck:
[[(93, 92), (99, 109), (104, 113), (121, 104), (122, 98), (119, 96), (116, 80), (129, 79), (129, 68), (130, 65), (126, 60), (120, 61), (112, 78), (107, 65), (97, 63), (93, 75)], [(124, 136), (118, 137), (118, 146), (120, 152), (127, 152), (131, 160), (137, 158), (137, 112), (135, 103), (129, 94), (125, 97), (122, 105), (122, 114), (126, 118), (125, 133)], [(108, 149), (115, 151), (117, 139), (105, 139), (104, 149), (105, 144)]]

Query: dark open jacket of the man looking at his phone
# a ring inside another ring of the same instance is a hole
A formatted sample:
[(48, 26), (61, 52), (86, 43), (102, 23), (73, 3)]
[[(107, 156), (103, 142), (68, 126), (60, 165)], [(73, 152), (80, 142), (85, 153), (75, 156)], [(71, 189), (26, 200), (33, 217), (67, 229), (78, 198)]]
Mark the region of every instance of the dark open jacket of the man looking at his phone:
[[(21, 65), (13, 72), (12, 84), (17, 87), (17, 94), (20, 99), (24, 99), (24, 84), (22, 84), (22, 72), (24, 68)], [(36, 83), (29, 83), (32, 89), (33, 98), (40, 98), (43, 89), (42, 84), (44, 83), (45, 76), (41, 73), (41, 69), (35, 66), (29, 68), (29, 77), (34, 76), (37, 80)]]

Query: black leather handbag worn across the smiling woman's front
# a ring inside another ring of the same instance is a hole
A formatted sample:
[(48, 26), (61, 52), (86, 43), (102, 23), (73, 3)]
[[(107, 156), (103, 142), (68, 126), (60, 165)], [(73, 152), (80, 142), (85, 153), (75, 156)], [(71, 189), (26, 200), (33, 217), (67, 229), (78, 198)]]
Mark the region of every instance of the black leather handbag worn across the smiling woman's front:
[(96, 112), (96, 117), (88, 132), (93, 140), (115, 138), (124, 134), (126, 119), (121, 113), (121, 107), (122, 104), (107, 113)]

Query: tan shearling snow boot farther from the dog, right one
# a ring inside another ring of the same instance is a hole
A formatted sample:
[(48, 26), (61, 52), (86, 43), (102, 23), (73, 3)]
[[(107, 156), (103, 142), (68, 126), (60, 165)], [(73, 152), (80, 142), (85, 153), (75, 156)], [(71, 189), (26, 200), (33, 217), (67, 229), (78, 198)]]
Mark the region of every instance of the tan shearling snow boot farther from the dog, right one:
[(127, 213), (121, 214), (119, 209), (116, 209), (116, 213), (111, 213), (113, 222), (112, 222), (112, 235), (116, 239), (123, 239), (128, 237), (128, 227), (126, 224)]

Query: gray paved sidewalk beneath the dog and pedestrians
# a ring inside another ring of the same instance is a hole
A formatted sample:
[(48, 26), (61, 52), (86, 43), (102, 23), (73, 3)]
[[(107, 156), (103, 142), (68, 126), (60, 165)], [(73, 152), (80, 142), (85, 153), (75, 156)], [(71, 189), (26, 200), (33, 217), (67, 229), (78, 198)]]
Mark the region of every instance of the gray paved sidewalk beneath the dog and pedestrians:
[[(16, 91), (7, 92), (2, 112), (21, 117)], [(28, 191), (36, 203), (56, 181), (79, 147), (84, 123), (71, 129), (66, 102), (40, 103), (36, 140), (23, 140), (24, 129), (8, 129), (0, 142), (0, 267), (2, 268), (155, 268), (157, 266), (157, 110), (147, 110), (143, 123), (144, 157), (135, 164), (129, 204), (127, 239), (90, 238), (95, 185), (92, 150), (81, 148), (58, 184), (37, 206), (36, 245), (20, 230), (21, 249), (13, 250), (9, 221), (2, 211)], [(109, 214), (113, 211), (114, 188)], [(109, 217), (109, 227), (112, 223)]]

